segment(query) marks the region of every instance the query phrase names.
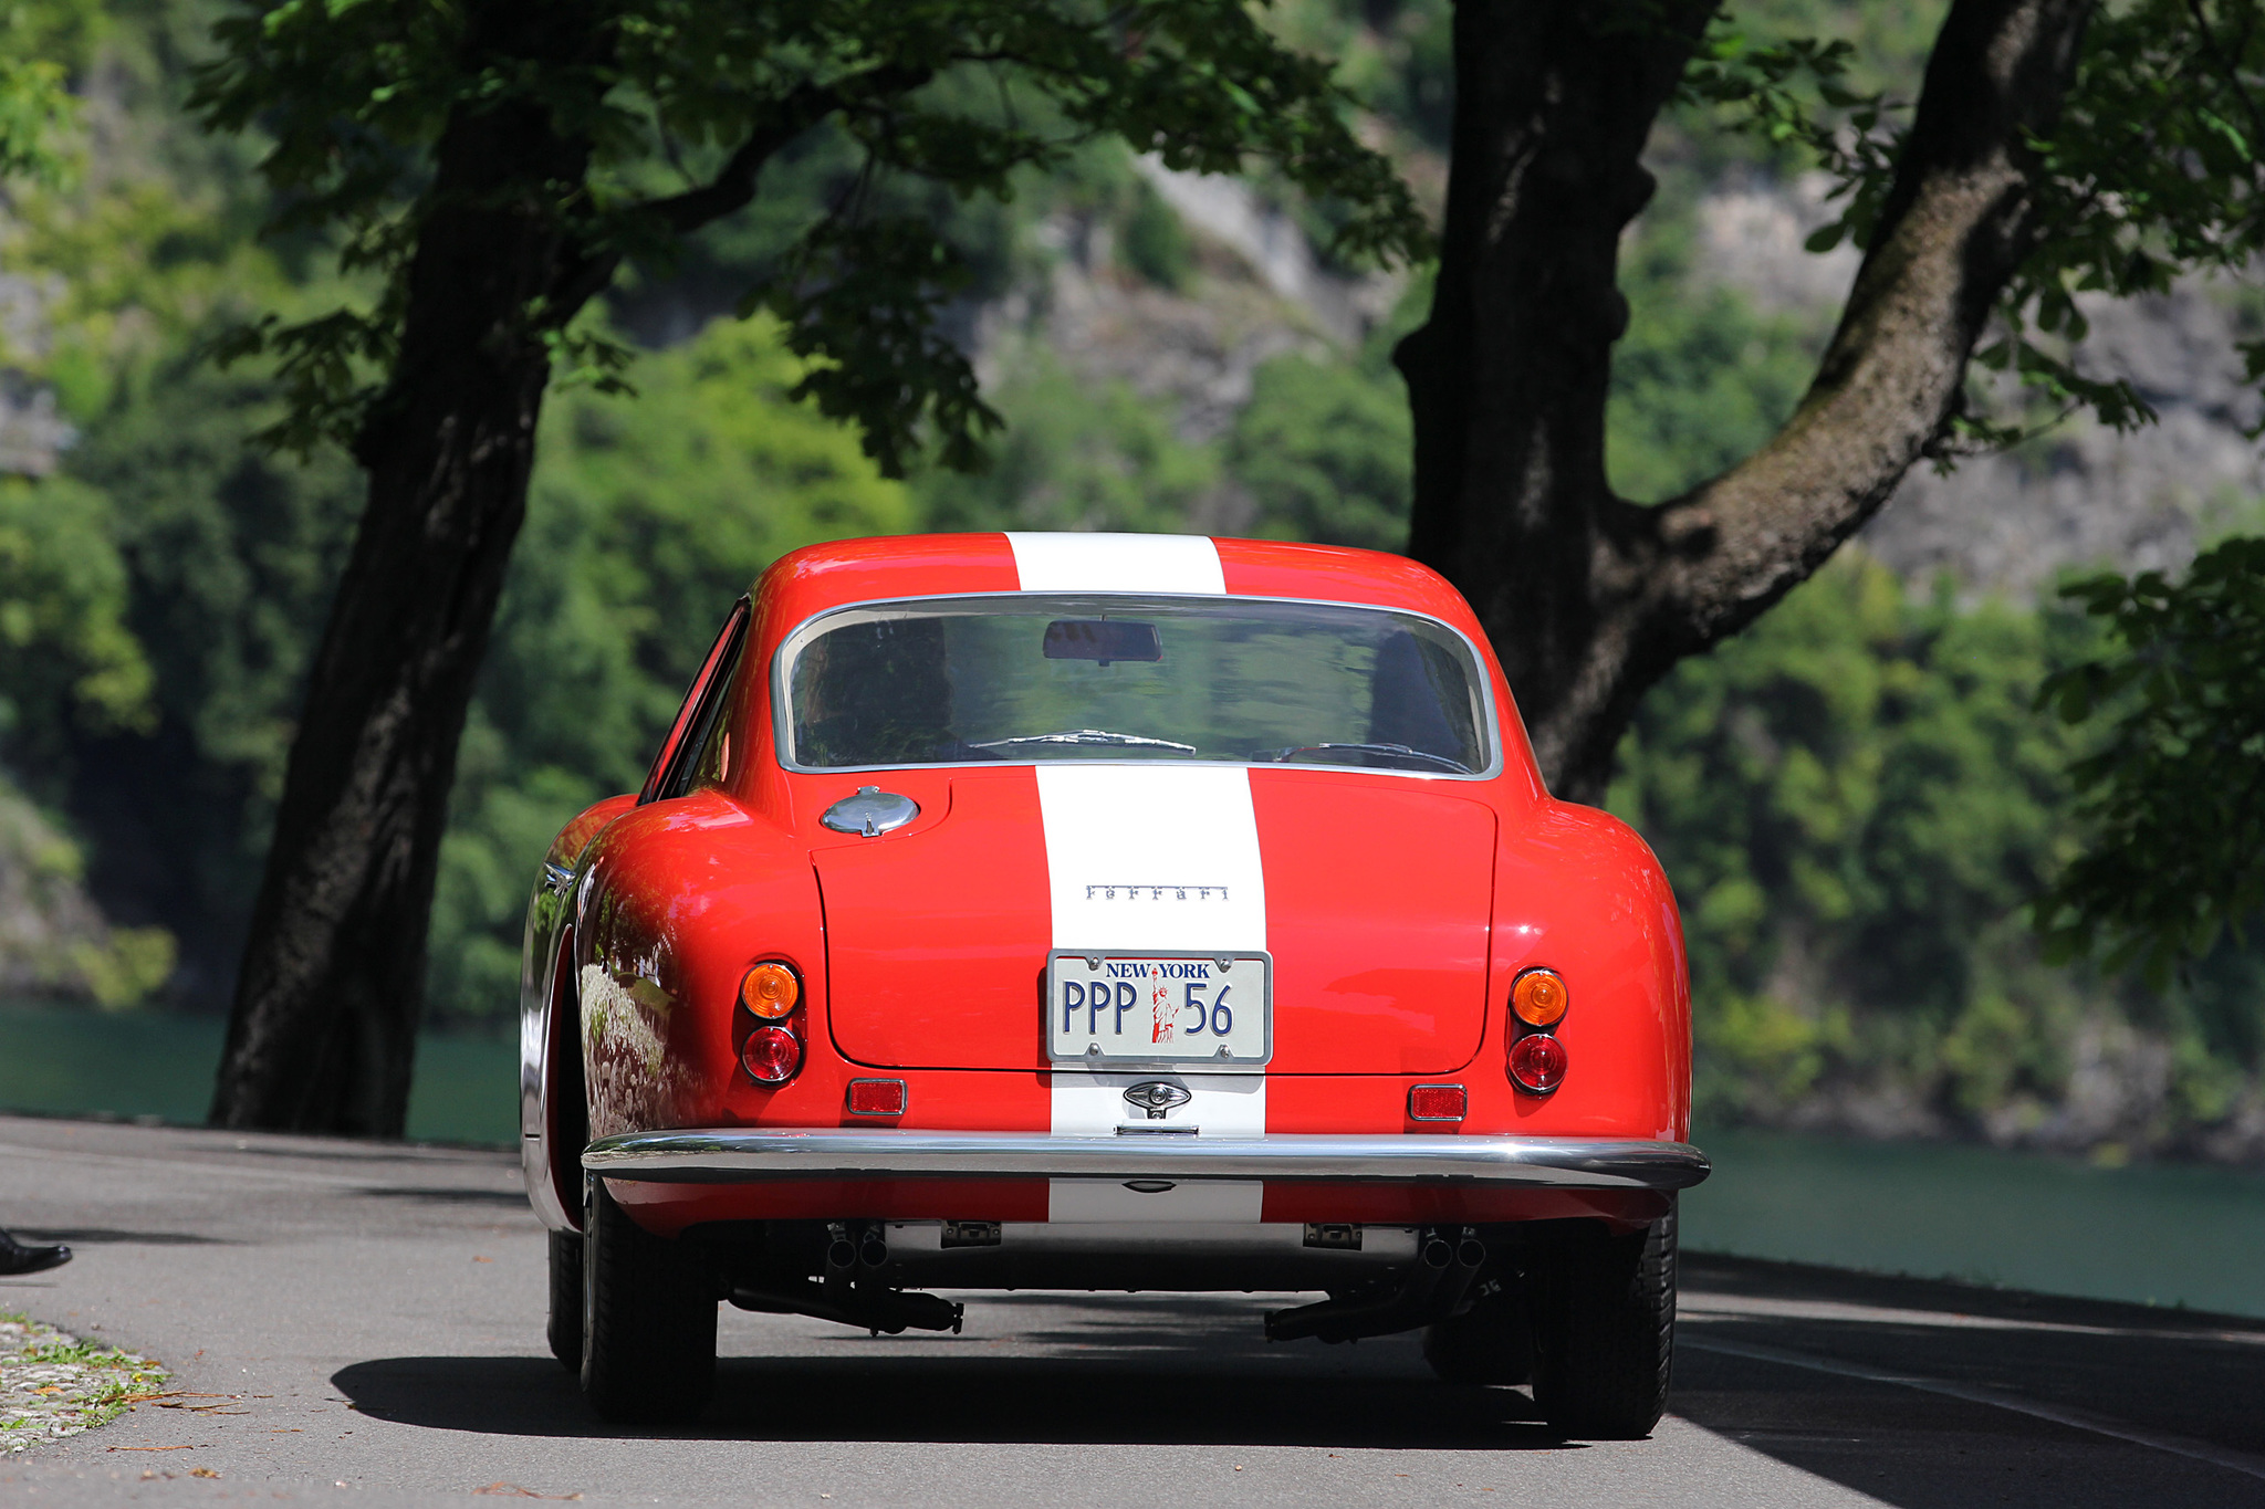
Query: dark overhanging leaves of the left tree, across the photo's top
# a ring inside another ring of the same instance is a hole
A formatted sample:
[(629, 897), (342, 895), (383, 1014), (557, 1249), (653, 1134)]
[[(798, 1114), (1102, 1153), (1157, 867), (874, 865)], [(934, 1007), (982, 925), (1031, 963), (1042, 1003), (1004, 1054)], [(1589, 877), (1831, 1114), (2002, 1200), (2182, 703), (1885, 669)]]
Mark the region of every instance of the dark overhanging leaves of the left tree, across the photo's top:
[[(627, 256), (743, 206), (784, 143), (838, 118), (858, 188), (913, 176), (1006, 197), (1024, 167), (1119, 136), (1171, 167), (1277, 165), (1350, 206), (1341, 244), (1420, 253), (1425, 228), (1391, 165), (1341, 118), (1325, 61), (1280, 48), (1241, 5), (1139, 0), (1110, 11), (1028, 0), (822, 0), (766, 7), (616, 0), (260, 0), (226, 18), (195, 106), (217, 129), (258, 122), (279, 226), (344, 235), (342, 267), (383, 283), (374, 301), (247, 326), (231, 353), (274, 351), (290, 416), (276, 439), (353, 439), (399, 353), (421, 226), (444, 208), (430, 156), (451, 120), (523, 111), (559, 149), (485, 163), (496, 201), (548, 224), (562, 281), (525, 310), (535, 335), (569, 330)], [(981, 81), (990, 90), (951, 88)], [(933, 86), (933, 88), (931, 88)], [(972, 100), (985, 100), (981, 109)], [(584, 165), (587, 156), (587, 165)], [(648, 188), (655, 165), (698, 165), (695, 186)], [(750, 290), (809, 364), (797, 396), (856, 421), (899, 473), (922, 439), (974, 466), (997, 416), (935, 312), (963, 276), (931, 217), (867, 213), (852, 192)]]

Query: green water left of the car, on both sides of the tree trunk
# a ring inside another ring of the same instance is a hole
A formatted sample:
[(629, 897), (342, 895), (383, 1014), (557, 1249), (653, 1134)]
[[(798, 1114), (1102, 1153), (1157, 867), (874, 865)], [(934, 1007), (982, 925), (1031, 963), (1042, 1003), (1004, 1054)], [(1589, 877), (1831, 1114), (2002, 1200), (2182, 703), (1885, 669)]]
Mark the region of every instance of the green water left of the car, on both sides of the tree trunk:
[[(226, 1025), (206, 1016), (0, 1007), (0, 1111), (197, 1124), (213, 1104)], [(519, 1041), (428, 1032), (417, 1041), (410, 1138), (519, 1136)]]

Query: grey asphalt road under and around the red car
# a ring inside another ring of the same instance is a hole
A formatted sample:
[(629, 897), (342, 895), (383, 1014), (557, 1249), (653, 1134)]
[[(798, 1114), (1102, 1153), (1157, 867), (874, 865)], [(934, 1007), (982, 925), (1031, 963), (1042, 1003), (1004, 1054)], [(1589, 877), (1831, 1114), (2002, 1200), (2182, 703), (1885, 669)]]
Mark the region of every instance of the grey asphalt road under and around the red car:
[(0, 1457), (7, 1504), (2265, 1504), (2265, 1321), (2179, 1310), (1692, 1258), (1635, 1443), (1409, 1339), (1268, 1346), (1277, 1299), (969, 1296), (895, 1339), (725, 1310), (707, 1421), (625, 1432), (544, 1351), (503, 1154), (0, 1118), (0, 1224), (79, 1249), (0, 1310), (188, 1394)]

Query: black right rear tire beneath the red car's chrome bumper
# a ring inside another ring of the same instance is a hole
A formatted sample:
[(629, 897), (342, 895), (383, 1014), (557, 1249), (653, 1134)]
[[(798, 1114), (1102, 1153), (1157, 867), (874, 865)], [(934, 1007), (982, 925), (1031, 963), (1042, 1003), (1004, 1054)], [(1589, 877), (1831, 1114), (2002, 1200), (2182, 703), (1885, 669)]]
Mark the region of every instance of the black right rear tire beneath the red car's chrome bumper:
[(1533, 1403), (1563, 1434), (1638, 1441), (1667, 1409), (1676, 1213), (1631, 1235), (1581, 1226), (1536, 1253)]

